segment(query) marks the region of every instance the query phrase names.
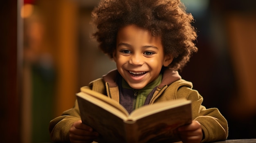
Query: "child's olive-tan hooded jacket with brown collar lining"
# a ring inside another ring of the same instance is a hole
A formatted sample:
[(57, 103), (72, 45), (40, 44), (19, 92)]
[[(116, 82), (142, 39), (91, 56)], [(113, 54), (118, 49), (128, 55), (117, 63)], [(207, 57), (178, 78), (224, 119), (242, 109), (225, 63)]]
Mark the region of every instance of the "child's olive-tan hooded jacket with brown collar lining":
[[(118, 79), (121, 75), (117, 70), (110, 71), (100, 79), (92, 81), (90, 88), (100, 92), (111, 99), (120, 101)], [(204, 139), (202, 142), (212, 142), (227, 139), (227, 120), (222, 116), (217, 108), (206, 109), (202, 106), (203, 98), (197, 90), (192, 89), (193, 85), (189, 81), (181, 79), (177, 71), (165, 69), (161, 84), (154, 88), (148, 104), (161, 101), (186, 98), (192, 101), (192, 119), (201, 124)], [(147, 102), (147, 101), (146, 101)], [(69, 141), (69, 130), (75, 121), (81, 120), (77, 101), (74, 108), (63, 112), (60, 117), (56, 117), (49, 124), (49, 131), (52, 141)]]

